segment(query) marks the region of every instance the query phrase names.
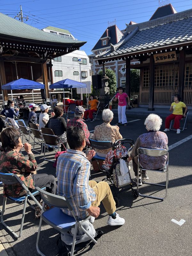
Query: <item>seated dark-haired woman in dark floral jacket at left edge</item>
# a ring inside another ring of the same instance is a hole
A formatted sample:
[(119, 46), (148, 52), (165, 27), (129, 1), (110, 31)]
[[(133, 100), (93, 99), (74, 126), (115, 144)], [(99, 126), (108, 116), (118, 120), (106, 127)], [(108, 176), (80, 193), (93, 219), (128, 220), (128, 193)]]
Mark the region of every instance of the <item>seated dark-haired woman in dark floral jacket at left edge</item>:
[[(53, 175), (46, 173), (33, 174), (33, 172), (36, 172), (37, 163), (34, 154), (31, 152), (31, 145), (28, 143), (24, 145), (28, 159), (19, 153), (20, 149), (23, 148), (20, 132), (9, 127), (1, 132), (0, 138), (3, 149), (0, 154), (1, 172), (17, 174), (29, 190), (35, 187), (46, 187), (48, 192), (56, 194), (56, 182)], [(20, 197), (26, 193), (20, 184), (4, 184), (3, 187), (4, 196)]]

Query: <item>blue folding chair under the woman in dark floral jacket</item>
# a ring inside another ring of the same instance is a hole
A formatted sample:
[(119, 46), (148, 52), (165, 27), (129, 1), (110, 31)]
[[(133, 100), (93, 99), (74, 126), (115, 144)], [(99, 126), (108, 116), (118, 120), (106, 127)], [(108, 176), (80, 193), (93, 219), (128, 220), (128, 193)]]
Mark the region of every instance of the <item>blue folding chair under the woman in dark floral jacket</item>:
[[(42, 209), (41, 204), (39, 204), (39, 202), (36, 200), (35, 196), (37, 194), (39, 194), (39, 191), (34, 191), (33, 193), (31, 193), (29, 191), (29, 189), (24, 185), (23, 181), (20, 180), (20, 178), (13, 173), (2, 173), (0, 172), (0, 178), (1, 181), (3, 182), (3, 184), (18, 184), (20, 183), (20, 185), (26, 190), (26, 195), (25, 196), (20, 196), (20, 197), (11, 197), (11, 196), (7, 196), (4, 197), (3, 200), (3, 207), (2, 207), (2, 211), (1, 211), (1, 223), (4, 225), (5, 228), (7, 228), (13, 236), (19, 238), (22, 235), (22, 231), (23, 231), (23, 223), (24, 223), (24, 218), (25, 218), (25, 211), (26, 211), (26, 205), (27, 203), (29, 204), (29, 206), (33, 209), (35, 209), (35, 207), (28, 201), (29, 197), (31, 197), (33, 199), (33, 201)], [(45, 189), (45, 188), (43, 188)], [(23, 212), (22, 212), (22, 218), (21, 218), (21, 225), (20, 225), (20, 229), (19, 229), (19, 235), (16, 234), (11, 227), (9, 227), (5, 222), (4, 222), (4, 211), (6, 208), (6, 200), (10, 200), (13, 203), (17, 203), (17, 204), (22, 204), (24, 203), (23, 206)]]

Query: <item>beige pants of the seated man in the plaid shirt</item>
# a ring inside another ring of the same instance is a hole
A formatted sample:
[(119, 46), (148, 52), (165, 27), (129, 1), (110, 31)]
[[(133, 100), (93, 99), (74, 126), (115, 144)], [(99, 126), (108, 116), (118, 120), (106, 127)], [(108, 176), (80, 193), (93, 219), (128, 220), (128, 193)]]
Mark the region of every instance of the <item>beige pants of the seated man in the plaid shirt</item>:
[(111, 189), (107, 182), (100, 181), (97, 183), (95, 180), (89, 181), (89, 186), (95, 191), (96, 200), (92, 202), (92, 206), (99, 206), (103, 203), (106, 212), (113, 214), (116, 210), (116, 203), (113, 199)]

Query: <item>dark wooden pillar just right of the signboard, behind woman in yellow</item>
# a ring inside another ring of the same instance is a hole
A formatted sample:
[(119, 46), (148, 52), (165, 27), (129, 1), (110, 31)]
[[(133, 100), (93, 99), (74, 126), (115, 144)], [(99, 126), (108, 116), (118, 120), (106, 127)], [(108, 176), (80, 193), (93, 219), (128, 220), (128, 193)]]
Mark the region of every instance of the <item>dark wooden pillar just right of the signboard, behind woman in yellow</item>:
[(180, 94), (181, 99), (183, 99), (184, 90), (184, 77), (185, 77), (185, 51), (180, 51), (179, 55), (179, 83), (178, 83), (178, 94)]

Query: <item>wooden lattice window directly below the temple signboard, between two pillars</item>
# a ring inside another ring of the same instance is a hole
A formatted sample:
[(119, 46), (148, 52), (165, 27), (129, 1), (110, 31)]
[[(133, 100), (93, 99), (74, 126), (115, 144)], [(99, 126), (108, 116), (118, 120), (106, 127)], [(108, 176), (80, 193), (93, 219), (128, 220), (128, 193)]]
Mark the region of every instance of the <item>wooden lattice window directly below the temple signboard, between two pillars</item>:
[[(175, 74), (174, 74), (175, 71)], [(155, 77), (154, 82), (155, 86), (163, 87), (163, 86), (172, 86), (173, 82), (175, 86), (178, 86), (179, 79), (179, 65), (162, 65), (156, 66), (155, 68)], [(173, 79), (175, 78), (175, 81)]]

